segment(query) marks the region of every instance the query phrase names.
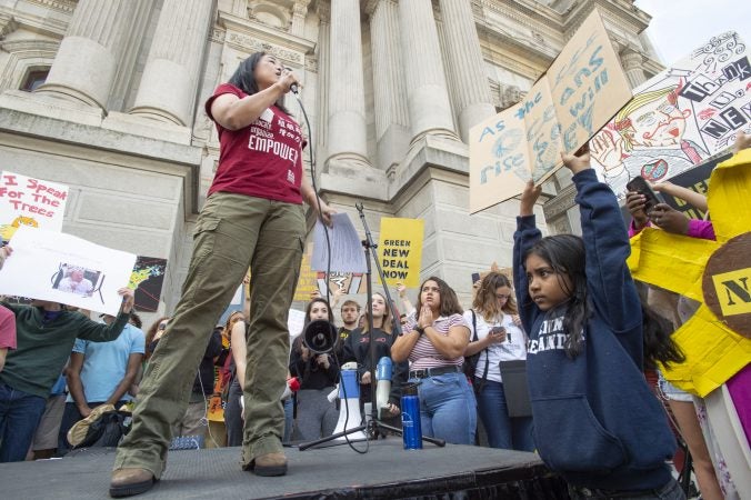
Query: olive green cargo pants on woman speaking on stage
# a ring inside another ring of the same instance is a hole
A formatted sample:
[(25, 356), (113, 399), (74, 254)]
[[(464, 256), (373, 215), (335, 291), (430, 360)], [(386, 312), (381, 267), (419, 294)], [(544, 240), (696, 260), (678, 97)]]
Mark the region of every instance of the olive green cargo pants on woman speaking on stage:
[(196, 222), (182, 297), (151, 356), (136, 398), (133, 424), (114, 469), (146, 469), (159, 479), (171, 427), (186, 413), (213, 327), (248, 267), (250, 316), (242, 464), (282, 452), (290, 334), (289, 308), (304, 247), (302, 206), (228, 192), (209, 197)]

